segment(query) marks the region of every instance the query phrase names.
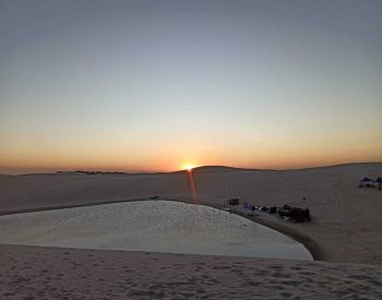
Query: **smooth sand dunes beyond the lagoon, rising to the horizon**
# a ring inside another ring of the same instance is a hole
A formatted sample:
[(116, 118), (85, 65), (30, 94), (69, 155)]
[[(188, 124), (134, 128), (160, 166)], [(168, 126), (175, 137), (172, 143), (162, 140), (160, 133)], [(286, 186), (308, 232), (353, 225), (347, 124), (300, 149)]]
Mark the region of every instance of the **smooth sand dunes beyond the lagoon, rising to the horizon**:
[[(0, 213), (114, 201), (164, 199), (224, 206), (229, 197), (254, 204), (308, 206), (312, 221), (286, 223), (260, 214), (253, 219), (315, 248), (330, 262), (382, 263), (382, 191), (359, 189), (360, 178), (379, 177), (382, 164), (350, 164), (301, 170), (196, 169), (193, 200), (189, 173), (8, 176), (0, 179)], [(202, 172), (200, 172), (202, 170)], [(225, 171), (224, 171), (225, 170)], [(235, 170), (235, 171), (234, 171)], [(302, 200), (306, 197), (306, 200)], [(313, 251), (313, 252), (314, 252)], [(314, 254), (314, 253), (313, 253)]]

